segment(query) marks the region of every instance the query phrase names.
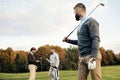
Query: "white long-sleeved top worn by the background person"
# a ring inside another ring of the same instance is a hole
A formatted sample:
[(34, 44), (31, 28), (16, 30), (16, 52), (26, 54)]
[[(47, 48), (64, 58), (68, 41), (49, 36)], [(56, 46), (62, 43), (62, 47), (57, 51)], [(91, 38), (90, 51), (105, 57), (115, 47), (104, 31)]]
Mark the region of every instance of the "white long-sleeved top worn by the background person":
[(48, 60), (51, 66), (59, 67), (59, 56), (57, 53), (53, 52), (53, 54), (50, 55), (50, 60)]

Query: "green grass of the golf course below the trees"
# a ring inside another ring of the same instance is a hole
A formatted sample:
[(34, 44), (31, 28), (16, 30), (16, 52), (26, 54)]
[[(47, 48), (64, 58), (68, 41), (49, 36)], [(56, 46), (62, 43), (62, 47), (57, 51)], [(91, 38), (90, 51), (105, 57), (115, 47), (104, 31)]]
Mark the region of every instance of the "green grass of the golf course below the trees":
[[(37, 72), (36, 80), (48, 80), (48, 72)], [(120, 80), (120, 66), (102, 67), (103, 80)], [(0, 80), (28, 80), (29, 73), (0, 73)], [(77, 80), (77, 71), (60, 71), (61, 80)], [(90, 76), (89, 79), (90, 80)]]

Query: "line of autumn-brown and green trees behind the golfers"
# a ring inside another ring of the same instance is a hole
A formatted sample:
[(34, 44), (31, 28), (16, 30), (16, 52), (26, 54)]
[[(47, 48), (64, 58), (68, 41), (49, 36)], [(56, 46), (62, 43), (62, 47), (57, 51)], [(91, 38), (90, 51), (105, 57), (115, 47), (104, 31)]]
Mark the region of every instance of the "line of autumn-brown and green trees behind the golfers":
[[(44, 45), (40, 46), (35, 53), (37, 71), (47, 71), (49, 69), (50, 65), (45, 58), (49, 58), (51, 48), (54, 48), (59, 55), (60, 70), (77, 70), (79, 56), (77, 47), (61, 48), (60, 46)], [(120, 53), (115, 54), (112, 50), (105, 50), (103, 47), (100, 48), (100, 52), (102, 54), (102, 66), (120, 64)], [(10, 47), (6, 50), (0, 49), (0, 72), (28, 72), (27, 56), (27, 51), (14, 51)]]

